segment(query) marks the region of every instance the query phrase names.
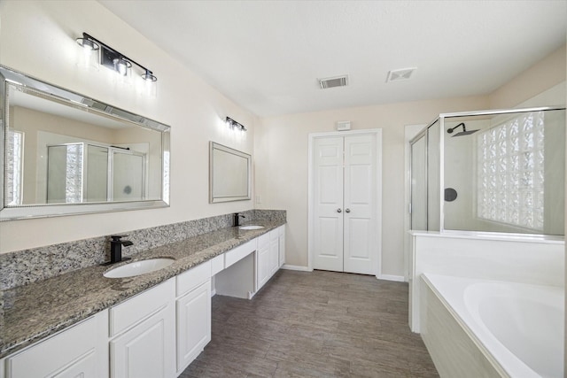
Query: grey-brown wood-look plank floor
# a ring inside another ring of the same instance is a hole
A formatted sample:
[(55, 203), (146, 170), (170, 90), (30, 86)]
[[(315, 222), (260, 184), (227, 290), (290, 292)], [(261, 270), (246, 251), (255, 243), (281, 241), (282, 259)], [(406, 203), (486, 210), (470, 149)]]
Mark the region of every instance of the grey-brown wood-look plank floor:
[(408, 327), (408, 284), (280, 270), (252, 300), (213, 297), (213, 337), (183, 378), (438, 377)]

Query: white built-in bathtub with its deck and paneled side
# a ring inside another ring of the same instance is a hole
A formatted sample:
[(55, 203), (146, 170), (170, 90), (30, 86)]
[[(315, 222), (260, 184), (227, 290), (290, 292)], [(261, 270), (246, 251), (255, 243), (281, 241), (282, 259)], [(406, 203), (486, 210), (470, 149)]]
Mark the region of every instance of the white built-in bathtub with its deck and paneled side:
[[(437, 274), (420, 281), (421, 334), (442, 377), (563, 377), (563, 288)], [(503, 300), (504, 293), (511, 299)], [(523, 304), (521, 312), (540, 307), (540, 324), (517, 324), (524, 320), (507, 315), (510, 301)], [(497, 324), (509, 329), (494, 329)]]

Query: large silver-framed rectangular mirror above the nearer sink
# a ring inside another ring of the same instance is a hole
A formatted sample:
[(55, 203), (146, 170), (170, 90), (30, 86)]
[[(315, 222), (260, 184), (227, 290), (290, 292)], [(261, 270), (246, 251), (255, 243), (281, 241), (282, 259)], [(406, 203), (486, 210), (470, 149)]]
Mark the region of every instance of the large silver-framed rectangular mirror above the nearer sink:
[(169, 204), (170, 127), (0, 66), (0, 220)]

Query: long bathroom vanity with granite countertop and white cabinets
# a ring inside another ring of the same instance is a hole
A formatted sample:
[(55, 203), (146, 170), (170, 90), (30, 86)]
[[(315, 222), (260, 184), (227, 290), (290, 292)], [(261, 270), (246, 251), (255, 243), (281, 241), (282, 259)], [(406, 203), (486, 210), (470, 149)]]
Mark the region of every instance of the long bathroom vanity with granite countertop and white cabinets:
[(133, 259), (175, 258), (152, 273), (109, 279), (91, 266), (5, 290), (0, 377), (178, 376), (211, 340), (212, 288), (251, 298), (283, 265), (284, 221), (261, 224)]

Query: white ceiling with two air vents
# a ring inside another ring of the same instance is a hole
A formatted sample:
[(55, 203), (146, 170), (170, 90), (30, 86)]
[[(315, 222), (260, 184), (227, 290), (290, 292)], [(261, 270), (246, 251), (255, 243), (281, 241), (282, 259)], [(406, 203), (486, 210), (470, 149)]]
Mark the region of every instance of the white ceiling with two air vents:
[(567, 33), (565, 0), (100, 3), (259, 116), (487, 94)]

